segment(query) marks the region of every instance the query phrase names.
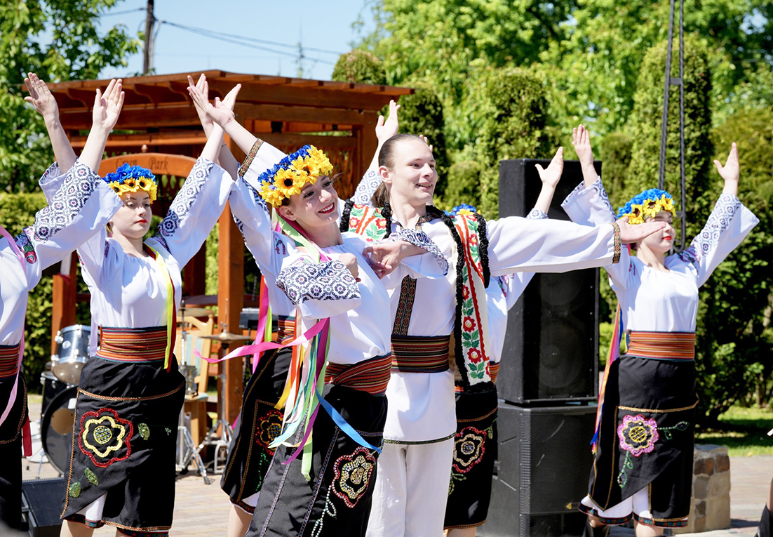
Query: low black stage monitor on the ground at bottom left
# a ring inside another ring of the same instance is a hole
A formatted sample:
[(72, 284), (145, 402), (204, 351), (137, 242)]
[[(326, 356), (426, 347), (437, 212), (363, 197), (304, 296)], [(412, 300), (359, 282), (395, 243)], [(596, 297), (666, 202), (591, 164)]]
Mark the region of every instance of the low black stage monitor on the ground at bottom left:
[(62, 500), (67, 485), (64, 477), (22, 481), (22, 517), (32, 537), (59, 537)]

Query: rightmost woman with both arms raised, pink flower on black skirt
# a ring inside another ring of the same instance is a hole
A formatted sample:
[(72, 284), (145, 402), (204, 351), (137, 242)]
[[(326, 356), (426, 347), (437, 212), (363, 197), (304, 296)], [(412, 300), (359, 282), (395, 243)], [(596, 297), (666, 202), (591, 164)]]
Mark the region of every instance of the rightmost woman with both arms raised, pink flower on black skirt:
[[(574, 129), (574, 148), (584, 183), (564, 200), (564, 209), (582, 224), (614, 221), (582, 125)], [(618, 210), (618, 217), (631, 224), (662, 221), (666, 227), (639, 241), (636, 256), (623, 251), (618, 265), (605, 267), (630, 343), (618, 360), (611, 355), (604, 372), (594, 466), (580, 506), (592, 527), (633, 518), (636, 534), (642, 537), (686, 525), (697, 405), (698, 288), (758, 222), (737, 198), (735, 144), (725, 166), (714, 163), (724, 190), (703, 231), (679, 254), (667, 255), (674, 238), (669, 193), (645, 190)], [(615, 343), (613, 339), (613, 349)]]

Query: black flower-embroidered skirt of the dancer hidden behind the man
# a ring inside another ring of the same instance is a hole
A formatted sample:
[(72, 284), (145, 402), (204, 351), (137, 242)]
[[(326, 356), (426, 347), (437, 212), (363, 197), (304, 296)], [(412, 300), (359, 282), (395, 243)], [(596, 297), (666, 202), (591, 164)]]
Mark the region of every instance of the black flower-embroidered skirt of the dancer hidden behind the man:
[(497, 457), (496, 388), (456, 395), (456, 436), (444, 528), (474, 528), (485, 522)]

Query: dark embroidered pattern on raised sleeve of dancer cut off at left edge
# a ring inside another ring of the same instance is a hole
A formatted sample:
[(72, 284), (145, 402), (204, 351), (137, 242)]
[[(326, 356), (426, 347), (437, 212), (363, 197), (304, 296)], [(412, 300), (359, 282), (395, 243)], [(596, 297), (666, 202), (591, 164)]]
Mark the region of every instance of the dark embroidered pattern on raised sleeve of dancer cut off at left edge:
[(49, 241), (70, 224), (97, 188), (99, 176), (85, 164), (76, 162), (51, 203), (38, 211), (32, 224), (32, 239)]

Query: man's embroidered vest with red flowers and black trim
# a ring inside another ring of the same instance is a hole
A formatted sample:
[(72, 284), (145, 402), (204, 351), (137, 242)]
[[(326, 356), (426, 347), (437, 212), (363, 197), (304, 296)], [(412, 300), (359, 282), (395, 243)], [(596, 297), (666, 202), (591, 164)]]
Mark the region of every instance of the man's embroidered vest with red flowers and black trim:
[[(379, 240), (386, 235), (386, 218), (380, 209), (359, 204), (347, 204), (346, 208), (349, 207), (351, 210), (342, 218), (342, 229), (362, 235), (369, 241)], [(485, 306), (486, 280), (489, 279), (488, 255), (481, 252), (481, 244), (488, 244), (485, 240), (485, 220), (475, 214), (458, 214), (453, 217), (453, 221), (454, 231), (461, 239), (461, 251), (455, 248), (457, 251), (451, 260), (457, 269), (455, 359), (463, 390), (487, 392), (493, 389), (493, 383), (488, 353), (489, 316)]]

